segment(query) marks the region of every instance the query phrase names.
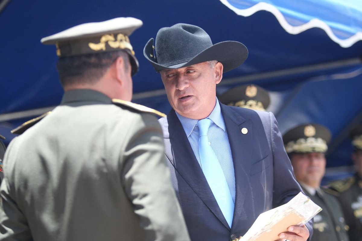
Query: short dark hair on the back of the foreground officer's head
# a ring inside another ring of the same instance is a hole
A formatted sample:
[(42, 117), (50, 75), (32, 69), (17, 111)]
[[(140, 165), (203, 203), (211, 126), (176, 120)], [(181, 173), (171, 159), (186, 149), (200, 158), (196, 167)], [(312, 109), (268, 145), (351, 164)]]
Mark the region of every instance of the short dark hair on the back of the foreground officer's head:
[(94, 84), (104, 76), (118, 57), (125, 60), (125, 68), (128, 70), (131, 66), (129, 56), (125, 51), (60, 57), (56, 66), (60, 83), (63, 87), (74, 84)]

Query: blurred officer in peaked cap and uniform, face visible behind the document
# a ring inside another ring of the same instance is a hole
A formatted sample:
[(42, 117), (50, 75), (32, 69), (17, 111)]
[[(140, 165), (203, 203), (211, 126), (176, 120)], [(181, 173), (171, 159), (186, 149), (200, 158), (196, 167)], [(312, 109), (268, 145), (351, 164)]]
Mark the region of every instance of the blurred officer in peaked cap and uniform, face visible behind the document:
[(296, 180), (304, 193), (322, 208), (313, 223), (311, 241), (348, 241), (348, 225), (337, 199), (320, 186), (325, 173), (324, 153), (331, 132), (323, 125), (303, 124), (283, 135)]

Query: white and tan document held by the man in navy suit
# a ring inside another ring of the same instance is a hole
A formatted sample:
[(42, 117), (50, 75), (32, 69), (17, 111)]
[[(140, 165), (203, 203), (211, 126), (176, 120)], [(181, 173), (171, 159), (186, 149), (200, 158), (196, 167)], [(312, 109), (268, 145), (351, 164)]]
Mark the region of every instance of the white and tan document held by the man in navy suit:
[(239, 241), (274, 241), (290, 226), (302, 227), (322, 208), (300, 192), (288, 203), (263, 212)]

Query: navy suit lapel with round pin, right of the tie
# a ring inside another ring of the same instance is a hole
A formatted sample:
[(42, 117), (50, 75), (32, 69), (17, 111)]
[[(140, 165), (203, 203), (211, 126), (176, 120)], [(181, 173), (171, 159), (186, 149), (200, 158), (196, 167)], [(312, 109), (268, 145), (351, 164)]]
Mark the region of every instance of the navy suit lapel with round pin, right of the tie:
[[(231, 229), (238, 227), (237, 223), (245, 216), (244, 206), (245, 197), (249, 186), (251, 158), (252, 158), (252, 122), (245, 120), (244, 117), (237, 113), (232, 108), (220, 103), (221, 111), (224, 117), (226, 130), (229, 138), (232, 160), (235, 171), (235, 208)], [(246, 128), (247, 134), (241, 133), (241, 130)], [(250, 207), (252, 208), (252, 207)]]

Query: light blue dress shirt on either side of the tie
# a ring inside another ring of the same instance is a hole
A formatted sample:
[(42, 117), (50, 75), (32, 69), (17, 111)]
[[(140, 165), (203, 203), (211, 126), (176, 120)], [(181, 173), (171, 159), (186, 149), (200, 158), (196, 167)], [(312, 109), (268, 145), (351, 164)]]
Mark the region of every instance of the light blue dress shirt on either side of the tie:
[[(198, 163), (200, 163), (199, 156), (199, 129), (197, 127), (197, 121), (181, 116), (176, 112), (178, 119), (181, 122), (182, 127), (189, 139), (190, 145)], [(210, 115), (207, 117), (212, 120), (207, 137), (211, 143), (212, 150), (214, 150), (216, 157), (218, 158), (221, 168), (223, 169), (227, 184), (230, 189), (232, 199), (235, 203), (235, 172), (232, 162), (232, 155), (230, 149), (230, 143), (226, 132), (225, 122), (221, 113), (220, 104), (216, 98), (216, 105)], [(202, 168), (202, 167), (201, 167)]]

